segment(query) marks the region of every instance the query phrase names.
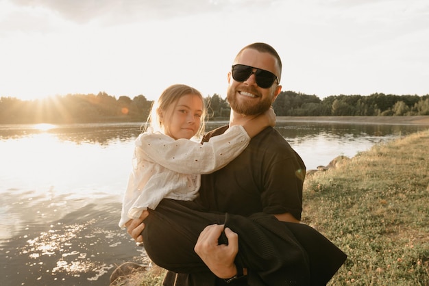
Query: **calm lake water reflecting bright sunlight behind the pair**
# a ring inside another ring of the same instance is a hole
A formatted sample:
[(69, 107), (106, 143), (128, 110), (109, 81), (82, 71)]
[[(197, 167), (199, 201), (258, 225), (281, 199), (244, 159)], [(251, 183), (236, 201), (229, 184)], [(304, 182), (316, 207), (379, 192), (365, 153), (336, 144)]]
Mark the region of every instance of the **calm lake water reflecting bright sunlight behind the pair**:
[[(0, 125), (1, 285), (108, 285), (117, 265), (149, 263), (117, 226), (139, 128)], [(284, 121), (275, 128), (310, 170), (428, 126)]]

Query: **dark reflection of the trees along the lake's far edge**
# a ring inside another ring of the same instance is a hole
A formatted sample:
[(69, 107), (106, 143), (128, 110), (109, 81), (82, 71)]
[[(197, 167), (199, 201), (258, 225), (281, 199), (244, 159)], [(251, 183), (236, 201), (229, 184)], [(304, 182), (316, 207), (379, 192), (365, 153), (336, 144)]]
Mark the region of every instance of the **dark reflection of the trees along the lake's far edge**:
[[(207, 131), (227, 122), (209, 122)], [(114, 141), (127, 141), (136, 138), (141, 132), (141, 123), (94, 123), (82, 125), (0, 125), (0, 140), (19, 139), (42, 133), (56, 136), (60, 141), (76, 144), (100, 144), (106, 146)], [(275, 126), (284, 138), (305, 140), (322, 135), (336, 138), (358, 138), (363, 135), (386, 136), (404, 135), (426, 129), (421, 125), (387, 124), (343, 124), (339, 122), (296, 122), (283, 121)], [(299, 142), (299, 141), (298, 141)]]

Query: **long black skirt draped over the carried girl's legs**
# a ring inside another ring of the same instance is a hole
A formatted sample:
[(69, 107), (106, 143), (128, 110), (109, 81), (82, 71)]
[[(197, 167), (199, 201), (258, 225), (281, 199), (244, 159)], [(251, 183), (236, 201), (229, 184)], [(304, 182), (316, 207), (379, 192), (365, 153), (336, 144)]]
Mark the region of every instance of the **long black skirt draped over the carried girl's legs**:
[[(238, 234), (235, 263), (248, 269), (245, 285), (326, 285), (347, 257), (310, 226), (280, 222), (266, 213), (247, 218), (208, 213), (193, 202), (164, 199), (144, 222), (149, 258), (182, 277), (195, 277), (175, 285), (216, 285), (207, 280), (209, 270), (194, 251), (199, 233), (210, 224), (225, 224)], [(219, 244), (228, 244), (224, 234)]]

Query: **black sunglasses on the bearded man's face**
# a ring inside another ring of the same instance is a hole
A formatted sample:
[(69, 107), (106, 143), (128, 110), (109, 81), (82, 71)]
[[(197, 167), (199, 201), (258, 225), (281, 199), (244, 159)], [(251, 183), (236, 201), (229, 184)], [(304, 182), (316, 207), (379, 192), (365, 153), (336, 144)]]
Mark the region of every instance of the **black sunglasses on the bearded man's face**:
[(268, 70), (261, 70), (260, 68), (245, 66), (244, 64), (234, 64), (232, 66), (232, 78), (235, 81), (243, 82), (253, 74), (255, 74), (256, 84), (260, 88), (271, 88), (275, 80), (277, 80), (277, 83), (280, 83), (278, 77)]

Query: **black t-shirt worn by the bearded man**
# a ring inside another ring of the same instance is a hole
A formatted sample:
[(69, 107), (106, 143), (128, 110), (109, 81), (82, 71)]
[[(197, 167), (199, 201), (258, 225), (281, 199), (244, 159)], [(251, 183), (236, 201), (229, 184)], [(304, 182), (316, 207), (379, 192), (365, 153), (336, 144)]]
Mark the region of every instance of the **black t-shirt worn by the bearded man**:
[[(211, 131), (204, 141), (226, 129), (228, 126)], [(300, 220), (305, 174), (301, 157), (278, 131), (267, 127), (230, 164), (201, 176), (196, 200), (209, 211), (241, 216), (287, 212)]]

